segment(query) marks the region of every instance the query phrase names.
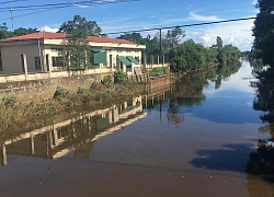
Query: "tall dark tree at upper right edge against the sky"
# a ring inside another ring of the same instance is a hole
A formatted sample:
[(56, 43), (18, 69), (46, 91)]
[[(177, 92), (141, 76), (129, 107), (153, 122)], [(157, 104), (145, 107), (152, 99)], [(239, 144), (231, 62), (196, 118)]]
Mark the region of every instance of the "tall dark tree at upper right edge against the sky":
[(256, 8), (260, 12), (256, 14), (253, 27), (253, 49), (256, 57), (262, 58), (266, 65), (274, 65), (274, 0), (259, 0)]

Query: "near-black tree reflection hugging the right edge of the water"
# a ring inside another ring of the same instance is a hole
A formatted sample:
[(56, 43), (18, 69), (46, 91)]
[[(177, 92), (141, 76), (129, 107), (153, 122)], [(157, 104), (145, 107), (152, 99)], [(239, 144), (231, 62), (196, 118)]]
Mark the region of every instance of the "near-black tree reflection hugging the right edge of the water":
[[(255, 89), (253, 108), (262, 111), (261, 119), (265, 125), (259, 128), (261, 134), (269, 132), (274, 139), (274, 69), (267, 68), (261, 72), (254, 72), (256, 82), (252, 83)], [(247, 172), (260, 175), (266, 181), (274, 182), (274, 147), (271, 143), (259, 140), (258, 150), (250, 153)]]

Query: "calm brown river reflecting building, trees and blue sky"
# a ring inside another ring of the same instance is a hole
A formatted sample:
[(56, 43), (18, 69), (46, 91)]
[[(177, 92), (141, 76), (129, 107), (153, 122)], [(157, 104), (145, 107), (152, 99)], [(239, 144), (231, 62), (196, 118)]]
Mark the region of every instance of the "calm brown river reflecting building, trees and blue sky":
[(273, 196), (246, 173), (271, 138), (252, 68), (216, 72), (1, 139), (0, 196)]

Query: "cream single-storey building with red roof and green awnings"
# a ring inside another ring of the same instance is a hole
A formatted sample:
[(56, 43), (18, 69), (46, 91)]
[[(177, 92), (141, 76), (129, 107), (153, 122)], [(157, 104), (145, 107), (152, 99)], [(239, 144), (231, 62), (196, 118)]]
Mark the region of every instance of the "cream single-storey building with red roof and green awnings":
[[(61, 60), (67, 35), (37, 32), (0, 40), (0, 73), (54, 72), (67, 70)], [(140, 67), (144, 45), (107, 37), (88, 36), (91, 46), (88, 69), (122, 70), (134, 73)]]

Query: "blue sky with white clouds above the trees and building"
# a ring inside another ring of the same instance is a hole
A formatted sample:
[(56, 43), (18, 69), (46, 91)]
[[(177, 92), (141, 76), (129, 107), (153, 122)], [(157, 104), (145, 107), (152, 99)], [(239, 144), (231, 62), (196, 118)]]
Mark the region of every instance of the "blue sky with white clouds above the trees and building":
[[(252, 18), (259, 12), (255, 3), (256, 0), (1, 0), (0, 23), (7, 23), (9, 31), (31, 27), (55, 32), (64, 22), (80, 15), (95, 21), (109, 37), (118, 37), (122, 33), (109, 33)], [(220, 36), (224, 44), (250, 50), (253, 22), (247, 20), (182, 28), (186, 35), (184, 39), (192, 38), (204, 46), (216, 44), (216, 37)], [(162, 34), (167, 31), (163, 30)], [(140, 34), (153, 37), (159, 35), (159, 31)]]

